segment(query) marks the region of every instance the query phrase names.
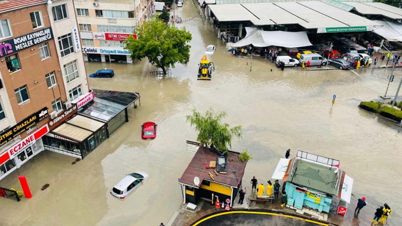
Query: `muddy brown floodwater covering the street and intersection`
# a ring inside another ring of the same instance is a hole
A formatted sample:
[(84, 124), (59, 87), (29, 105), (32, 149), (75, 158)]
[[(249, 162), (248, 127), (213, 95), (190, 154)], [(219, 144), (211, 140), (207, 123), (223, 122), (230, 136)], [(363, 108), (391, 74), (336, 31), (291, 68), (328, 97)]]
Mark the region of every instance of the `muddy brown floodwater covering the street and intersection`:
[[(186, 20), (198, 13), (192, 1), (185, 1), (175, 14)], [(354, 179), (353, 194), (365, 196), (373, 206), (387, 202), (393, 210), (389, 224), (402, 224), (402, 130), (357, 107), (384, 94), (391, 69), (361, 69), (356, 74), (301, 72), (298, 67), (282, 72), (255, 57), (250, 72), (250, 59), (232, 57), (200, 17), (177, 26), (193, 35), (191, 58), (171, 69), (168, 77), (149, 75), (155, 68), (145, 59), (128, 65), (86, 63), (88, 75), (105, 67), (116, 74), (88, 78), (90, 88), (139, 92), (141, 106), (131, 107), (129, 122), (77, 164), (71, 164), (71, 157), (44, 151), (2, 180), (4, 187), (18, 187), (17, 176), (25, 175), (33, 198), (0, 200), (1, 226), (166, 224), (182, 202), (177, 180), (193, 156), (186, 151), (186, 140), (197, 138), (186, 115), (208, 108), (226, 111), (225, 122), (242, 126), (242, 139), (232, 145), (234, 151), (247, 148), (252, 153), (245, 186), (253, 175), (269, 180), (287, 149), (291, 156), (296, 150), (308, 151), (339, 159)], [(217, 47), (210, 57), (215, 72), (212, 80), (198, 81), (198, 63), (208, 44)], [(399, 81), (401, 70), (395, 75)], [(397, 85), (391, 83), (389, 94), (395, 94)], [(331, 108), (333, 94), (337, 98)], [(155, 140), (141, 140), (145, 121), (158, 123)], [(126, 200), (109, 193), (125, 174), (140, 170), (149, 178)], [(45, 183), (50, 187), (41, 191)]]

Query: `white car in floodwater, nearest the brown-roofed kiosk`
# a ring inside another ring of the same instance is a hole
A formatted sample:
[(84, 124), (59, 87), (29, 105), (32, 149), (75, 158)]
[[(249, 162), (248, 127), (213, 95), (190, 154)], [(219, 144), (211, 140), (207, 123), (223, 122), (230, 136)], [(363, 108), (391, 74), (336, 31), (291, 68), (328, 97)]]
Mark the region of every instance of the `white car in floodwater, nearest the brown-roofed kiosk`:
[(137, 189), (147, 178), (148, 174), (142, 171), (127, 174), (110, 190), (110, 193), (115, 197), (123, 199), (133, 190)]

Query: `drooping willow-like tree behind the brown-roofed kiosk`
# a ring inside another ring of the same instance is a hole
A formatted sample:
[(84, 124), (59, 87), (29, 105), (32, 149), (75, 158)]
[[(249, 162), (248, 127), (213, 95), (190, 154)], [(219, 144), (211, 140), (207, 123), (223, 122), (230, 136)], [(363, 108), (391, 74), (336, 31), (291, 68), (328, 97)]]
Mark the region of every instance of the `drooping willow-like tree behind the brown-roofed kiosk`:
[(192, 115), (187, 115), (187, 121), (198, 131), (197, 141), (202, 146), (213, 145), (221, 151), (232, 148), (232, 138), (241, 138), (241, 126), (229, 128), (229, 124), (221, 123), (226, 116), (225, 112), (215, 113), (212, 109), (206, 111), (204, 115), (193, 110)]

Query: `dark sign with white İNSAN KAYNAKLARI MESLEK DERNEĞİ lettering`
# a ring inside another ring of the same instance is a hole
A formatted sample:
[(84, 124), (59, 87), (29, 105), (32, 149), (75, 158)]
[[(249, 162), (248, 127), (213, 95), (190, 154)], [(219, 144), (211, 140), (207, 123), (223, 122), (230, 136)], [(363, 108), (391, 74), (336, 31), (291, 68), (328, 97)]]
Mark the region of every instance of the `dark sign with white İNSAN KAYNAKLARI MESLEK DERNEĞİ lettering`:
[(0, 42), (0, 57), (18, 52), (51, 39), (53, 39), (52, 29), (44, 28), (40, 31), (2, 41)]

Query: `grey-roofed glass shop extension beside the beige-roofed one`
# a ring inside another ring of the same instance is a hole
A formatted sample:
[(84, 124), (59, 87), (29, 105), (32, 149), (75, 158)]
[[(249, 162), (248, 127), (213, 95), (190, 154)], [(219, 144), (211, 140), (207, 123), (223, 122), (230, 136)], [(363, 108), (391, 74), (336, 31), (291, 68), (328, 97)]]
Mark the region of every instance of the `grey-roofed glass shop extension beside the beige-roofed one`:
[(127, 108), (140, 99), (138, 93), (99, 89), (93, 93), (96, 98), (83, 107), (78, 105), (78, 113), (107, 123), (108, 136), (128, 121)]

